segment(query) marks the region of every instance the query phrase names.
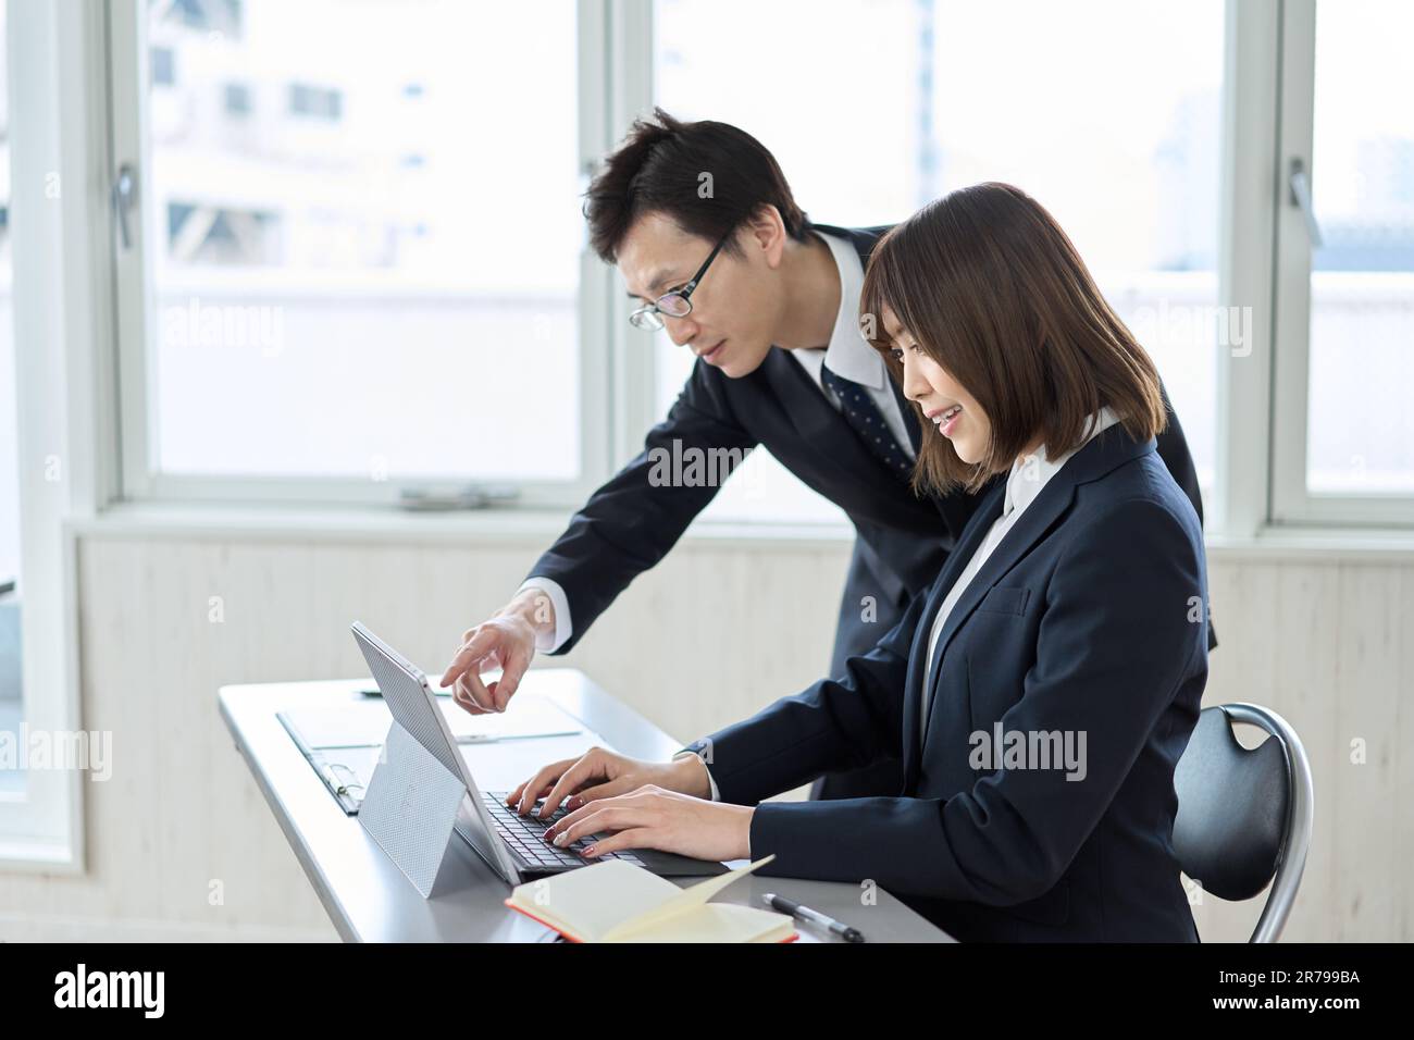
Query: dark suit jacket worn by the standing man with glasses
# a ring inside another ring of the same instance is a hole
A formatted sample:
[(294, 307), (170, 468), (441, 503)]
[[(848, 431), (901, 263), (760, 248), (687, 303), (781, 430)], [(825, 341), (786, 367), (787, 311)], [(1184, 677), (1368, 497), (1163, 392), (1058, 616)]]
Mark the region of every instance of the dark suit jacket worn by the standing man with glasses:
[[(865, 266), (888, 231), (814, 226), (850, 241)], [(918, 410), (898, 383), (889, 383), (916, 451)], [(648, 433), (643, 451), (594, 492), (530, 570), (532, 576), (557, 582), (570, 604), (573, 634), (556, 652), (571, 649), (629, 582), (667, 555), (717, 494), (713, 485), (652, 484), (653, 453), (673, 457), (674, 441), (682, 451), (696, 449), (707, 458), (714, 457), (714, 450), (762, 444), (850, 518), (854, 556), (840, 601), (831, 674), (882, 638), (918, 593), (933, 583), (981, 498), (964, 492), (916, 497), (884, 468), (785, 349), (772, 348), (755, 372), (740, 379), (699, 361), (667, 419)], [(1198, 475), (1172, 408), (1168, 429), (1158, 437), (1158, 453), (1202, 518)], [(872, 613), (863, 610), (864, 597), (870, 597)], [(829, 777), (822, 794), (881, 794), (896, 787), (898, 763), (881, 763), (857, 777)]]

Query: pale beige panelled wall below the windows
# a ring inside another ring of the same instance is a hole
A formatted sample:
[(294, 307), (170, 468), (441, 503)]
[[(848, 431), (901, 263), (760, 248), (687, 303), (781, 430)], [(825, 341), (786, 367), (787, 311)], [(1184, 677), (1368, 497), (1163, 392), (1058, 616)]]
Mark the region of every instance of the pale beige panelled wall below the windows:
[[(332, 938), (216, 688), (363, 674), (355, 617), (436, 669), (543, 543), (85, 535), (82, 724), (113, 732), (113, 777), (85, 785), (83, 876), (0, 874), (0, 940)], [(820, 676), (844, 565), (840, 543), (691, 539), (554, 664), (697, 736)], [(1212, 599), (1208, 703), (1281, 712), (1315, 770), (1315, 845), (1287, 938), (1414, 938), (1414, 563), (1217, 552)], [(1366, 764), (1350, 763), (1355, 739)], [(1206, 940), (1240, 940), (1257, 907), (1209, 897), (1195, 913)]]

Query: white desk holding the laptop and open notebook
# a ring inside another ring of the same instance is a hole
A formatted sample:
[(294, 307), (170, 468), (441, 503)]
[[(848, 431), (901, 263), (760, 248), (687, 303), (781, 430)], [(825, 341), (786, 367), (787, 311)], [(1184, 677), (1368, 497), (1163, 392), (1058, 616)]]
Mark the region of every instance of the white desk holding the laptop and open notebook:
[[(280, 822), (310, 884), (339, 935), (378, 942), (543, 942), (553, 934), (508, 910), (506, 883), (460, 838), (452, 838), (448, 872), (455, 883), (424, 900), (359, 826), (344, 815), (328, 788), (296, 747), (276, 713), (291, 707), (337, 707), (362, 700), (369, 679), (223, 686), (221, 715), (260, 791)], [(547, 698), (635, 758), (666, 758), (682, 747), (666, 733), (608, 696), (574, 669), (532, 669), (516, 698)], [(512, 707), (512, 710), (515, 710)], [(485, 790), (513, 788), (536, 768), (590, 746), (590, 737), (544, 737), (461, 746), (472, 775)], [(445, 879), (444, 879), (445, 880)], [(687, 883), (690, 879), (682, 879)], [(871, 942), (949, 942), (946, 932), (885, 891), (875, 906), (860, 904), (858, 889), (831, 882), (745, 877), (718, 900), (759, 906), (776, 891), (860, 928)], [(802, 942), (830, 941), (807, 925)]]

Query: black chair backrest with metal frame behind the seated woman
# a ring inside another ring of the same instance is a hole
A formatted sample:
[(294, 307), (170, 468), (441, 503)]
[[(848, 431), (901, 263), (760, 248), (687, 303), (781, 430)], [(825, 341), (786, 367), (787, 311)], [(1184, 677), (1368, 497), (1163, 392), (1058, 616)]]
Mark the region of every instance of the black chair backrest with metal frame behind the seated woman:
[[(1237, 743), (1233, 723), (1270, 736), (1249, 750)], [(1297, 732), (1258, 705), (1208, 707), (1174, 770), (1174, 850), (1184, 873), (1234, 901), (1271, 882), (1249, 941), (1275, 942), (1301, 886), (1315, 811), (1311, 764)]]

